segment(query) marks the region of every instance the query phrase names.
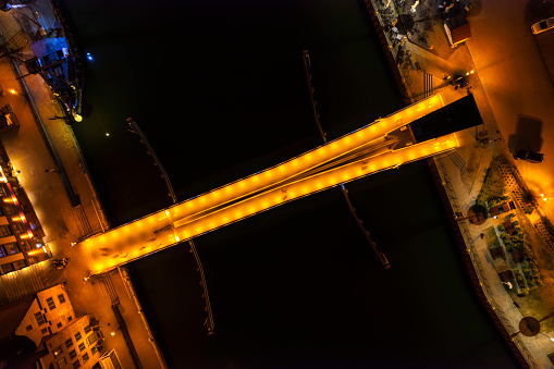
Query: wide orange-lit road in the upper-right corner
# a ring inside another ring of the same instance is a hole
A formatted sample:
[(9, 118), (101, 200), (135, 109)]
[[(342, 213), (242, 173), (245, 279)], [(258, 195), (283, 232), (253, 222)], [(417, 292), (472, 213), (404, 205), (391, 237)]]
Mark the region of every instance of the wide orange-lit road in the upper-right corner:
[(481, 12), (469, 19), (467, 47), (510, 151), (544, 153), (542, 163), (516, 163), (533, 196), (553, 198), (540, 204), (554, 219), (554, 143), (547, 139), (554, 137), (554, 85), (545, 64), (554, 60), (543, 61), (538, 42), (538, 37), (552, 35), (533, 35), (530, 25), (537, 20), (526, 19), (529, 5), (537, 3), (482, 0)]

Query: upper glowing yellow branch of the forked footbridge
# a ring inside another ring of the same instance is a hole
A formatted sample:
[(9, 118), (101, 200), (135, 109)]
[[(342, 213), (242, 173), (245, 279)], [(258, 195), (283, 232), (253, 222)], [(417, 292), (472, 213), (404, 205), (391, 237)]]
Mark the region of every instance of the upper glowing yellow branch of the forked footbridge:
[(119, 239), (120, 234), (133, 235), (137, 241), (147, 242), (151, 238), (151, 226), (155, 226), (156, 230), (161, 230), (170, 226), (173, 222), (186, 222), (188, 218), (194, 218), (196, 214), (201, 214), (210, 209), (267, 189), (300, 173), (312, 170), (320, 164), (355, 151), (367, 143), (381, 138), (403, 125), (439, 110), (443, 106), (444, 102), (440, 95), (429, 97), (392, 115), (376, 121), (371, 125), (332, 140), (324, 146), (305, 152), (276, 167), (112, 229), (104, 234), (88, 238), (84, 244), (89, 244), (94, 239), (95, 244), (101, 243), (108, 245), (112, 239)]

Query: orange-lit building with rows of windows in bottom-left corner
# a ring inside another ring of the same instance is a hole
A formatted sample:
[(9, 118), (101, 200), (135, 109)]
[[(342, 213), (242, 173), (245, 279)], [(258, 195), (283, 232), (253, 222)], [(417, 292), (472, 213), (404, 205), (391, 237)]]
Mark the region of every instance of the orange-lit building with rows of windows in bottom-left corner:
[(121, 368), (90, 315), (75, 316), (63, 284), (0, 306), (0, 368)]

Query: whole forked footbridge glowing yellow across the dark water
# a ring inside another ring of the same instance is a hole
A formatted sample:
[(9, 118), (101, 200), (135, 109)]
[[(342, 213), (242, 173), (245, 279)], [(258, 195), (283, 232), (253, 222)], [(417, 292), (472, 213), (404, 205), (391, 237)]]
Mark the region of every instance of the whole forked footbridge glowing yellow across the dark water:
[[(178, 202), (78, 244), (89, 275), (295, 199), (453, 150), (456, 134), (418, 142), (410, 123), (444, 103), (432, 96), (279, 165)], [(452, 132), (452, 131), (451, 131)]]

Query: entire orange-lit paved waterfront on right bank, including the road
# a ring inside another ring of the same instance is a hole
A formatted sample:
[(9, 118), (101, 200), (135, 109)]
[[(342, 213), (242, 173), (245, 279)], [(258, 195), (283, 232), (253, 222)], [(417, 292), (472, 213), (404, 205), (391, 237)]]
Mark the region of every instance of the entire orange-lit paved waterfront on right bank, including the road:
[[(445, 195), (447, 210), (452, 211), (453, 214), (456, 211), (467, 214), (481, 189), (487, 169), (495, 164), (494, 158), (503, 155), (508, 158), (510, 165), (514, 169), (516, 168), (516, 163), (512, 160), (510, 155), (510, 150), (513, 151), (514, 147), (510, 147), (508, 144), (513, 139), (513, 135), (517, 134), (513, 123), (517, 121), (517, 114), (534, 111), (537, 115), (533, 115), (542, 116), (543, 120), (549, 115), (552, 116), (547, 112), (549, 108), (545, 106), (553, 106), (554, 94), (552, 88), (546, 86), (550, 83), (546, 69), (543, 64), (544, 61), (541, 60), (541, 56), (537, 50), (529, 50), (529, 52), (516, 51), (516, 49), (526, 47), (533, 48), (532, 44), (529, 42), (531, 37), (529, 26), (532, 19), (528, 16), (524, 21), (522, 16), (518, 15), (526, 11), (527, 14), (531, 14), (533, 11), (537, 13), (537, 7), (540, 3), (535, 1), (517, 1), (517, 5), (510, 3), (510, 7), (503, 7), (500, 10), (497, 9), (500, 5), (494, 3), (494, 1), (472, 2), (475, 8), (468, 13), (472, 37), (453, 49), (446, 40), (446, 34), (442, 28), (442, 21), (439, 16), (440, 8), (436, 7), (434, 1), (419, 4), (413, 13), (414, 19), (431, 20), (426, 27), (418, 26), (420, 35), (424, 35), (422, 37), (424, 41), (417, 37), (409, 39), (405, 33), (403, 35), (402, 30), (391, 30), (391, 23), (398, 20), (399, 14), (404, 11), (411, 9), (415, 1), (401, 1), (398, 3), (402, 4), (398, 7), (395, 7), (394, 2), (391, 1), (389, 1), (389, 7), (385, 7), (386, 2), (367, 0), (366, 4), (368, 13), (380, 34), (383, 50), (387, 54), (391, 69), (396, 75), (396, 81), (406, 100), (417, 101), (428, 94), (441, 93), (445, 102), (448, 103), (458, 99), (461, 95), (471, 93), (483, 118), (484, 124), (482, 127), (465, 132), (465, 135), (472, 137), (466, 140), (467, 144), (456, 151), (455, 158), (451, 156), (439, 157), (433, 160), (432, 164), (438, 174), (439, 189)], [(501, 17), (504, 17), (504, 20), (500, 20)], [(398, 28), (401, 28), (401, 25), (396, 29)], [(498, 32), (500, 29), (506, 29), (508, 34), (502, 36), (504, 32)], [(404, 37), (406, 38), (405, 40)], [(494, 39), (492, 48), (490, 42), (491, 37)], [(503, 70), (498, 71), (490, 67), (491, 63), (508, 64), (504, 54), (505, 49), (500, 47), (503, 42), (509, 44), (510, 48), (514, 49), (510, 50), (507, 57), (515, 58), (514, 66), (517, 66), (517, 69), (514, 67), (512, 71), (508, 71), (506, 66), (502, 66)], [(404, 58), (398, 58), (399, 53)], [(472, 58), (472, 56), (477, 56), (477, 58)], [(534, 58), (534, 60), (527, 60), (529, 58)], [(475, 62), (476, 59), (477, 62)], [(524, 67), (525, 70), (532, 70), (530, 78), (512, 77), (509, 83), (504, 78), (504, 76), (509, 75), (513, 71), (520, 71)], [(455, 73), (464, 75), (468, 72), (470, 73), (468, 82), (471, 87), (469, 91), (465, 88), (454, 89), (445, 81), (445, 78)], [(502, 82), (502, 86), (498, 86), (498, 82)], [(531, 93), (530, 89), (537, 85), (540, 86), (539, 89)], [(521, 90), (530, 91), (528, 94), (530, 96), (534, 95), (534, 102), (531, 102), (529, 98), (524, 98), (524, 101), (529, 100), (529, 102), (526, 107), (522, 107), (519, 101), (514, 99), (502, 100), (503, 96), (505, 96), (502, 94), (515, 94), (521, 97)], [(538, 91), (542, 94), (540, 97), (535, 95)], [(493, 103), (489, 100), (491, 96), (493, 97)], [(507, 101), (512, 102), (506, 103)], [(514, 108), (521, 109), (522, 111), (518, 112)], [(497, 120), (496, 116), (502, 119)], [(553, 125), (549, 125), (547, 121), (544, 123), (543, 130), (552, 128)], [(549, 145), (545, 144), (545, 146)], [(545, 151), (547, 155), (549, 150), (546, 147), (541, 151)], [(517, 169), (522, 171), (526, 186), (529, 186), (529, 184), (531, 187), (537, 186), (535, 179), (538, 177), (544, 177), (547, 181), (546, 183), (550, 183), (551, 175), (546, 173), (551, 171), (550, 164), (518, 162)], [(550, 185), (543, 186), (546, 189), (550, 189)], [(507, 189), (508, 194), (513, 195), (513, 190), (519, 190), (520, 188), (510, 188), (508, 186)], [(529, 190), (529, 188), (522, 189)], [(535, 193), (538, 190), (533, 189), (531, 188), (530, 192)], [(533, 239), (532, 246), (534, 251), (540, 253), (541, 256), (544, 256), (544, 253), (552, 255), (552, 248), (547, 245), (546, 239), (544, 239), (544, 234), (539, 234), (535, 227), (532, 226), (537, 226), (538, 222), (551, 216), (551, 204), (550, 201), (547, 204), (534, 204), (534, 209), (531, 214), (526, 214), (518, 207), (516, 214), (519, 219), (526, 220), (525, 223), (528, 225), (526, 232)], [(458, 235), (460, 250), (469, 268), (469, 274), (478, 291), (478, 295), (507, 343), (513, 349), (517, 347), (517, 350), (521, 353), (519, 357), (525, 360), (525, 366), (554, 368), (547, 357), (554, 353), (554, 342), (549, 340), (549, 336), (554, 334), (554, 325), (549, 318), (552, 310), (552, 302), (550, 298), (544, 297), (546, 293), (535, 293), (532, 297), (519, 298), (518, 305), (514, 304), (507, 287), (502, 283), (495, 270), (495, 265), (489, 254), (487, 239), (480, 236), (488, 227), (497, 225), (500, 221), (488, 219), (483, 224), (473, 225), (467, 219), (458, 221), (453, 217), (452, 223), (455, 233)], [(547, 259), (550, 258), (551, 256), (547, 257)], [(545, 280), (545, 286), (540, 288), (541, 291), (549, 291), (549, 288), (553, 287), (550, 275), (551, 268), (546, 263), (547, 259), (544, 260), (541, 271), (542, 278)], [(517, 306), (520, 306), (520, 308)], [(535, 317), (541, 320), (541, 334), (528, 337), (518, 333), (519, 323), (525, 316)]]

